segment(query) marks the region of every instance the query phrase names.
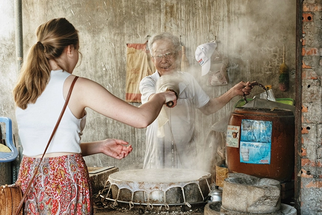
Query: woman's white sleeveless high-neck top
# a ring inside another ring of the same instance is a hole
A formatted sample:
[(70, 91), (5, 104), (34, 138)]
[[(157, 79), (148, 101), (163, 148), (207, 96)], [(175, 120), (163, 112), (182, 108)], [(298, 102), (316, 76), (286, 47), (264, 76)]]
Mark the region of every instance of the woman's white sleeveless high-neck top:
[[(41, 155), (60, 116), (65, 99), (63, 84), (70, 74), (66, 71), (51, 71), (50, 80), (35, 104), (26, 109), (16, 109), (19, 137), (26, 156)], [(73, 93), (72, 95), (73, 96)], [(60, 125), (46, 151), (81, 153), (80, 136), (85, 127), (86, 115), (77, 119), (67, 106)]]

